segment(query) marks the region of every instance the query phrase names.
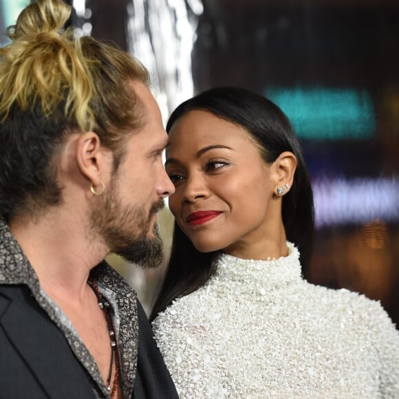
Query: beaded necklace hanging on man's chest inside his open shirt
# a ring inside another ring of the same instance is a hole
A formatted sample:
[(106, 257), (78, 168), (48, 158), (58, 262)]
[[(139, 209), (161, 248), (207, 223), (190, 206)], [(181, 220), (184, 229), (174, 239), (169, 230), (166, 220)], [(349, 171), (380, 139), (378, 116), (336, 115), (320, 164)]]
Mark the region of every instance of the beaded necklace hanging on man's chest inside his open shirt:
[[(109, 364), (109, 373), (107, 378), (107, 391), (109, 391), (109, 395), (111, 396), (111, 398), (114, 398), (116, 389), (118, 389), (118, 382), (119, 382), (119, 351), (118, 351), (118, 344), (116, 343), (114, 323), (112, 321), (112, 316), (111, 316), (111, 305), (109, 304), (107, 299), (104, 298), (103, 294), (101, 294), (100, 290), (98, 289), (96, 281), (94, 281), (93, 279), (91, 279), (91, 277), (89, 277), (89, 279), (87, 280), (87, 284), (89, 284), (89, 286), (94, 291), (94, 294), (96, 294), (98, 301), (98, 308), (103, 310), (105, 319), (107, 321), (109, 338), (111, 338), (111, 361)], [(115, 378), (114, 378), (114, 383), (112, 384), (111, 387), (114, 359), (115, 359)]]

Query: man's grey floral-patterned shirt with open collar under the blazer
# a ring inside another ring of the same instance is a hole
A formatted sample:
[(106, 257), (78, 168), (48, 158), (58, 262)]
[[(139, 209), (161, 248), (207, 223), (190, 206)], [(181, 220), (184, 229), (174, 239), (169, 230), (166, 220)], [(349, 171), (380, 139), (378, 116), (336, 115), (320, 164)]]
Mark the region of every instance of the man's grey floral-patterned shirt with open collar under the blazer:
[[(123, 397), (130, 398), (136, 376), (138, 356), (138, 319), (136, 292), (105, 261), (91, 270), (100, 292), (111, 304), (120, 356), (120, 387)], [(0, 285), (24, 284), (30, 288), (34, 299), (50, 319), (63, 332), (78, 361), (92, 377), (97, 398), (109, 398), (109, 392), (100, 370), (80, 339), (72, 323), (62, 310), (41, 289), (39, 279), (23, 250), (12, 235), (6, 222), (0, 217)], [(111, 312), (112, 313), (112, 312)]]

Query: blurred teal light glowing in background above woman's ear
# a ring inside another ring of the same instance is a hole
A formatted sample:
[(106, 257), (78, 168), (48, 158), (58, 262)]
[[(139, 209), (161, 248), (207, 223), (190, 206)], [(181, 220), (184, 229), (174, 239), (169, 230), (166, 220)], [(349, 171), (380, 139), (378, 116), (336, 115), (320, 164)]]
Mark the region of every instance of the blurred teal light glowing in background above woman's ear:
[(373, 102), (366, 90), (272, 87), (264, 94), (290, 118), (299, 138), (366, 139), (376, 131)]

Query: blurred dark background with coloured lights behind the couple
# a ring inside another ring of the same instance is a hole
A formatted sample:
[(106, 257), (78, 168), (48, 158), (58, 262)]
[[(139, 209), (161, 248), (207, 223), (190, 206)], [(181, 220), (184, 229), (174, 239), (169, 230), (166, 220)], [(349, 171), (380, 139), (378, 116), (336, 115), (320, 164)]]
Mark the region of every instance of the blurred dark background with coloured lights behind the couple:
[[(0, 0), (0, 32), (29, 1)], [(396, 0), (74, 0), (76, 34), (146, 65), (166, 122), (236, 85), (273, 100), (303, 146), (316, 211), (310, 280), (381, 301), (399, 327), (399, 3)], [(0, 45), (5, 45), (0, 35)], [(159, 217), (169, 256), (173, 217)], [(165, 266), (110, 256), (149, 312)]]

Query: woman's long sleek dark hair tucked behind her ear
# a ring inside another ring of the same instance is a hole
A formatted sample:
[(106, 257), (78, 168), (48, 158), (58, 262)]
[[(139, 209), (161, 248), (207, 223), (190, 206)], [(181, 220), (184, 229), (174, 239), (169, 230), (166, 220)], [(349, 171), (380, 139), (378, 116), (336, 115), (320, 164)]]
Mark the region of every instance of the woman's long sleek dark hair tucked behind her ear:
[[(259, 94), (237, 87), (218, 87), (177, 107), (169, 118), (166, 131), (169, 132), (177, 119), (194, 109), (209, 111), (244, 127), (259, 143), (263, 160), (268, 164), (277, 160), (283, 151), (294, 153), (298, 164), (292, 187), (283, 196), (282, 217), (287, 239), (299, 248), (302, 272), (305, 278), (308, 277), (314, 231), (312, 186), (301, 145), (288, 118), (277, 105)], [(213, 259), (216, 253), (196, 250), (175, 223), (171, 258), (151, 320), (174, 299), (194, 292), (210, 279), (215, 272)]]

